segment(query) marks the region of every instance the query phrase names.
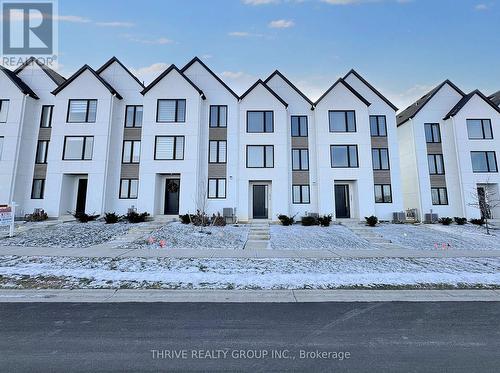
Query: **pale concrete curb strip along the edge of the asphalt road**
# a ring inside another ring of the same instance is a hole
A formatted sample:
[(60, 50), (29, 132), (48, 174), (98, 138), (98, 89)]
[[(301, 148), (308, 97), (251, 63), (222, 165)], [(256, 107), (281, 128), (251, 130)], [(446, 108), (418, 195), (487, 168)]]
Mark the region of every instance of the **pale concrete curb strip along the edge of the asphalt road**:
[(500, 290), (0, 290), (11, 302), (500, 302)]

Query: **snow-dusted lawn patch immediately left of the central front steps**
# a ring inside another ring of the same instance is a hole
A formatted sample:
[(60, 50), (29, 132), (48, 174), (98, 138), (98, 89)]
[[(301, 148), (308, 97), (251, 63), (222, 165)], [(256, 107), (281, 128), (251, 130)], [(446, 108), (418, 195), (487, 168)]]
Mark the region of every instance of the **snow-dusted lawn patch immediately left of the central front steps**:
[[(226, 225), (225, 227), (196, 227), (180, 222), (168, 223), (142, 237), (126, 248), (158, 248), (161, 240), (166, 248), (190, 249), (242, 249), (248, 236), (246, 225)], [(150, 243), (149, 240), (153, 242)]]

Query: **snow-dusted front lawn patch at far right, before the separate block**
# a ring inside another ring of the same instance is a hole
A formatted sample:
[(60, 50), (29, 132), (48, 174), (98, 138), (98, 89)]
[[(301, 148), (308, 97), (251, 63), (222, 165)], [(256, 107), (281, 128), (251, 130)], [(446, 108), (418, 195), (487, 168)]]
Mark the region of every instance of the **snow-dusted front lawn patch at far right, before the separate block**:
[(383, 224), (374, 230), (385, 239), (410, 249), (442, 249), (443, 244), (449, 249), (500, 250), (500, 231), (492, 230), (487, 235), (484, 227), (472, 224)]

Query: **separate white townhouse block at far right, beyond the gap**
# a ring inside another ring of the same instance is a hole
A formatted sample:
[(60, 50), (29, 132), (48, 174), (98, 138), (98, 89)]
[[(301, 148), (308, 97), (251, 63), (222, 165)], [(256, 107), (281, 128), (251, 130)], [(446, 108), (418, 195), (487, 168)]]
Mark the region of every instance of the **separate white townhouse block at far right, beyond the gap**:
[[(474, 204), (499, 196), (500, 108), (446, 80), (397, 116), (405, 208), (424, 220), (497, 218)], [(485, 197), (486, 196), (486, 197)], [(498, 199), (498, 197), (496, 197)]]

